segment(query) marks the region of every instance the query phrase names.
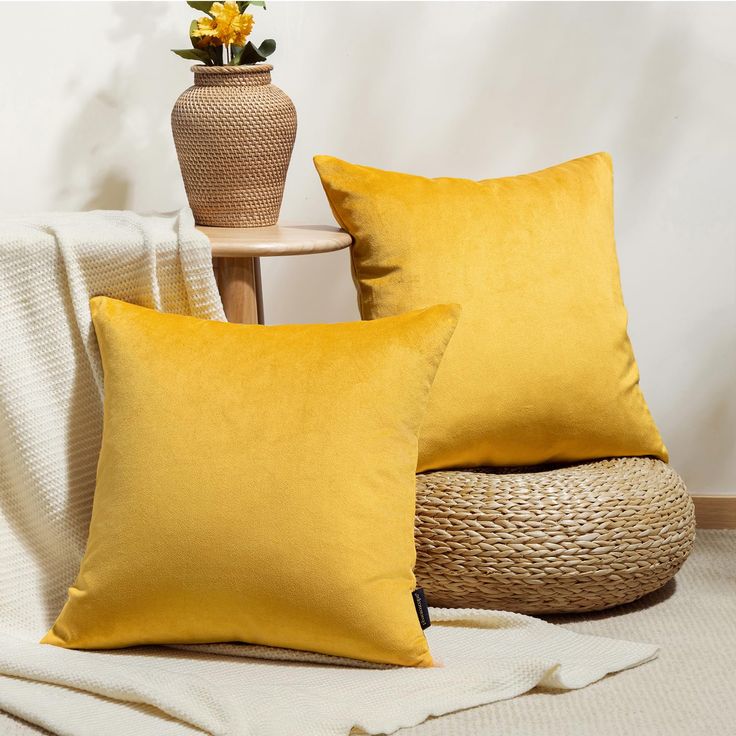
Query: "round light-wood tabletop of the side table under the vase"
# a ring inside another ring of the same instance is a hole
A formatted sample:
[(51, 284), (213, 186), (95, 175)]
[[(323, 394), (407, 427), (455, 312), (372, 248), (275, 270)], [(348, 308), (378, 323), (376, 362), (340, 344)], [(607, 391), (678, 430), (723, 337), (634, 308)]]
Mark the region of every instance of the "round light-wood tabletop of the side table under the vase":
[(270, 227), (198, 226), (212, 244), (216, 258), (297, 256), (329, 253), (351, 245), (344, 230), (325, 225), (271, 225)]

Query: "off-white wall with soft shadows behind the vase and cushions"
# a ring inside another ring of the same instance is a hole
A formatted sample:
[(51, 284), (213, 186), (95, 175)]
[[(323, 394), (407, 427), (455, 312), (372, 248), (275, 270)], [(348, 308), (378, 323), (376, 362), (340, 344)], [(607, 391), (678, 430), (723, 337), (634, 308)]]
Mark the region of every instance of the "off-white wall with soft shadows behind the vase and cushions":
[[(736, 5), (270, 3), (299, 133), (286, 221), (330, 222), (315, 153), (484, 178), (598, 150), (645, 394), (691, 490), (736, 492)], [(183, 2), (6, 3), (0, 208), (171, 209)], [(11, 32), (13, 28), (23, 32)], [(357, 316), (347, 255), (264, 264), (269, 322)]]

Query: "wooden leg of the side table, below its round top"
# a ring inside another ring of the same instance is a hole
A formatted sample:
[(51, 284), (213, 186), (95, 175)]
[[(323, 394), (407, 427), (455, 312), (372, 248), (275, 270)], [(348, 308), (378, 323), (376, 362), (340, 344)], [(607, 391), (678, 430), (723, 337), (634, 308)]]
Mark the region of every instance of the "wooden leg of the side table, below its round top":
[(213, 258), (212, 268), (228, 322), (263, 324), (258, 258)]

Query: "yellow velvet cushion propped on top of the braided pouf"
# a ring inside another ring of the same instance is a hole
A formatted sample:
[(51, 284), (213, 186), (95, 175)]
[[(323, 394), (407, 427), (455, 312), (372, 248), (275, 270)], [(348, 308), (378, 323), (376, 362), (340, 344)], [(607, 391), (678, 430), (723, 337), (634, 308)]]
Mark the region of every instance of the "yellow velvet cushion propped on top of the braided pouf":
[(463, 308), (419, 470), (667, 460), (639, 388), (613, 236), (610, 156), (502, 179), (427, 179), (317, 156), (354, 238), (361, 314)]

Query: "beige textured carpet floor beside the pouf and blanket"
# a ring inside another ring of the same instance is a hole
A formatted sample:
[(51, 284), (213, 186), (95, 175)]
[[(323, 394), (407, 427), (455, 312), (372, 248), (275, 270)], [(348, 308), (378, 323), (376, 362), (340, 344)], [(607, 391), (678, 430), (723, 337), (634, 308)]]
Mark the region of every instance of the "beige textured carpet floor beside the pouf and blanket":
[[(400, 736), (736, 734), (736, 531), (700, 531), (676, 580), (639, 603), (555, 620), (584, 633), (656, 642), (659, 659), (584, 690), (534, 692)], [(0, 713), (3, 736), (39, 733)]]

